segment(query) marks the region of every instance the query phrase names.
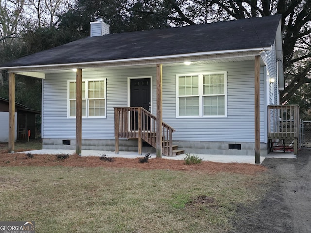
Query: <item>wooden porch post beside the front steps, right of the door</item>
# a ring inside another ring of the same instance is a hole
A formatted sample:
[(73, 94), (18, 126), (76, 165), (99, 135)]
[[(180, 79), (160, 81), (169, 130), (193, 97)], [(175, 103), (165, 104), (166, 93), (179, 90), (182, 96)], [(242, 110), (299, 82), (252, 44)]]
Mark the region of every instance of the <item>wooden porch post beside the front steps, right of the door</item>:
[(156, 64), (156, 157), (162, 158), (162, 64)]

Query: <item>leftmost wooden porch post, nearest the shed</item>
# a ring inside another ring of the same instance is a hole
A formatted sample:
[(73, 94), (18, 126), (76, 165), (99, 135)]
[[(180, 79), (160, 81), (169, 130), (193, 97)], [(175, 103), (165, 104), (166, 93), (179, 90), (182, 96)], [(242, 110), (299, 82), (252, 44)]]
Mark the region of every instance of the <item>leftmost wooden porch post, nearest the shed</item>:
[(9, 153), (14, 153), (15, 135), (15, 74), (9, 73)]

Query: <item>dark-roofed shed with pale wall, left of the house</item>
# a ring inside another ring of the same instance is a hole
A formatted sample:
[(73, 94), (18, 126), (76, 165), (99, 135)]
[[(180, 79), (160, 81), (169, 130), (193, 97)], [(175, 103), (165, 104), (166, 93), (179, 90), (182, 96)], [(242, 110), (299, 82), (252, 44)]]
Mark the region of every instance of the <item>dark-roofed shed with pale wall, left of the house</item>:
[[(14, 140), (35, 139), (35, 116), (41, 111), (27, 108), (25, 105), (15, 103)], [(0, 142), (9, 141), (9, 100), (0, 97)]]

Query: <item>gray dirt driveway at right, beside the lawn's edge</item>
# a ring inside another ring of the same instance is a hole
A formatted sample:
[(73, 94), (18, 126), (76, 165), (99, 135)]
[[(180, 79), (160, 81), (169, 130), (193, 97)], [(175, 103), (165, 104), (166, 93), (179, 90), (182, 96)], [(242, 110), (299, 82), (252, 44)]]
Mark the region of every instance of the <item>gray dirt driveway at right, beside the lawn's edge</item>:
[(238, 207), (232, 233), (310, 233), (310, 155), (304, 149), (297, 159), (265, 159), (263, 166), (274, 177), (271, 189), (258, 205)]

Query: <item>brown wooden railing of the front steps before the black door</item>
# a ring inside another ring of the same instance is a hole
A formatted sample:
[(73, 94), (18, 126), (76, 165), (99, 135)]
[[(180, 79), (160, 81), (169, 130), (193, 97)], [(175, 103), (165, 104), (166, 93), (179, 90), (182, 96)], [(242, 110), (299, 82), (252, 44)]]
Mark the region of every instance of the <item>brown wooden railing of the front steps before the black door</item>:
[[(138, 138), (138, 153), (144, 140), (156, 148), (157, 118), (142, 107), (116, 107), (115, 110), (115, 140), (116, 153), (119, 152), (119, 138)], [(162, 152), (172, 155), (173, 127), (162, 122)]]

